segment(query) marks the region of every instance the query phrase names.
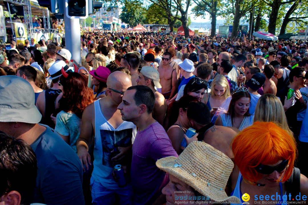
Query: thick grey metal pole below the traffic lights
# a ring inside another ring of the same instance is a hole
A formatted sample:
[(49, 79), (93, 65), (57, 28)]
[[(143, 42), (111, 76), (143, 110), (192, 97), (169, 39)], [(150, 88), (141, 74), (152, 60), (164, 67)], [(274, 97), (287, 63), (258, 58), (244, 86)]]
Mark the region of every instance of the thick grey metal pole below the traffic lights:
[[(80, 53), (80, 23), (78, 18), (67, 18), (66, 10), (64, 10), (65, 21), (65, 48), (68, 49), (72, 57), (77, 63), (81, 62)], [(78, 32), (71, 32), (78, 30)]]

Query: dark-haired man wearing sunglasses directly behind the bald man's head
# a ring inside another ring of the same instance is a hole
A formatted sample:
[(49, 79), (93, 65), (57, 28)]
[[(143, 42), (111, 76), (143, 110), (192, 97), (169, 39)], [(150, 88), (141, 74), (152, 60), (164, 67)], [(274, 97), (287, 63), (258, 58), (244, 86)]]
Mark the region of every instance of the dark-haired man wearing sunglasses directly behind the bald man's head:
[(127, 68), (132, 75), (132, 86), (137, 85), (139, 57), (135, 53), (127, 53), (121, 58), (120, 67)]

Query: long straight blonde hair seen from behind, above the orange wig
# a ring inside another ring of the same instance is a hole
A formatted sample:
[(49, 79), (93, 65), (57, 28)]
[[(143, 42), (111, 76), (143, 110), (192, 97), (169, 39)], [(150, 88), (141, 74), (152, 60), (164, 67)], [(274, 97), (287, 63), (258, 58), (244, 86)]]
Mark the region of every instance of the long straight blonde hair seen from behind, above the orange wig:
[(256, 121), (274, 122), (293, 136), (293, 132), (288, 126), (282, 103), (273, 94), (267, 93), (259, 98), (253, 117), (253, 122)]

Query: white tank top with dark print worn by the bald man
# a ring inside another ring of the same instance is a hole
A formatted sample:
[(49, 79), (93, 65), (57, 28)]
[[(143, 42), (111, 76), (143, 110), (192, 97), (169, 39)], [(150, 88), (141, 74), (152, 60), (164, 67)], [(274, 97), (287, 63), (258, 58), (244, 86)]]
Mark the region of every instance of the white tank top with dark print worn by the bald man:
[(118, 147), (127, 147), (132, 144), (132, 140), (135, 139), (137, 134), (136, 125), (124, 121), (115, 129), (103, 115), (99, 100), (94, 102), (94, 109), (95, 144), (92, 177), (104, 187), (115, 189), (118, 188), (118, 183), (112, 176), (113, 164), (111, 163), (110, 153), (114, 149), (114, 144), (117, 144)]

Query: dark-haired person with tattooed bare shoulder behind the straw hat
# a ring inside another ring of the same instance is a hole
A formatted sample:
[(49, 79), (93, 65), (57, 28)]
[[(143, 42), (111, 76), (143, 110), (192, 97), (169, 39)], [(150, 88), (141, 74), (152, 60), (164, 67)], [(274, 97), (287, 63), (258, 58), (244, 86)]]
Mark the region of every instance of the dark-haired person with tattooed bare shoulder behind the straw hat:
[(231, 142), (239, 130), (232, 127), (217, 126), (211, 123), (211, 114), (206, 104), (191, 102), (187, 108), (190, 126), (199, 133), (198, 140), (204, 141), (229, 158), (233, 158)]

